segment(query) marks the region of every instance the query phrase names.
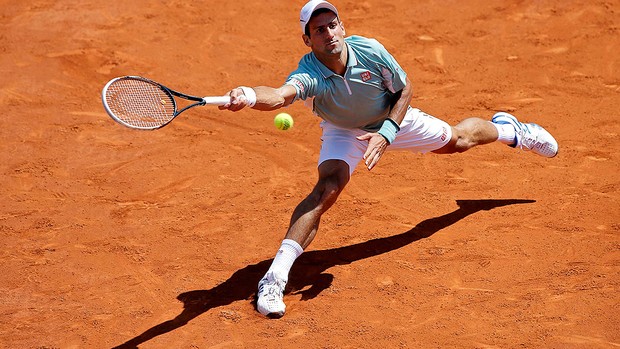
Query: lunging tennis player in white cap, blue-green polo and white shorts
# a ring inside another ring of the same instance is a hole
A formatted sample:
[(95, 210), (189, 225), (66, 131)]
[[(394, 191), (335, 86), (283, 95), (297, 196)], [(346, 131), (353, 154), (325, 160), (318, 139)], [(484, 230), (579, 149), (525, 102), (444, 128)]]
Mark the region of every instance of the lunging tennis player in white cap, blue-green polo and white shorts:
[(294, 210), (275, 259), (258, 283), (257, 310), (269, 317), (284, 315), (289, 271), (360, 161), (372, 170), (386, 150), (451, 154), (493, 142), (544, 157), (558, 153), (549, 132), (508, 113), (497, 113), (491, 121), (468, 118), (450, 126), (412, 108), (411, 81), (398, 62), (377, 40), (345, 37), (344, 23), (329, 2), (309, 1), (301, 9), (300, 24), (311, 52), (284, 85), (235, 88), (229, 92), (230, 103), (220, 107), (275, 110), (304, 100), (323, 119), (318, 182)]

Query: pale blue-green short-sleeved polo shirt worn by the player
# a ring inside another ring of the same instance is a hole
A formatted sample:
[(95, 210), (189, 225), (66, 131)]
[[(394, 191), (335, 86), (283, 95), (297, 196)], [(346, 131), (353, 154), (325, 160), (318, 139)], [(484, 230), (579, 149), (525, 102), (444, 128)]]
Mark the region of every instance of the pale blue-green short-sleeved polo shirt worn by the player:
[(297, 90), (294, 101), (313, 98), (314, 113), (325, 121), (375, 132), (388, 117), (394, 93), (405, 87), (407, 74), (377, 40), (350, 36), (344, 41), (349, 54), (344, 76), (310, 52), (286, 84)]

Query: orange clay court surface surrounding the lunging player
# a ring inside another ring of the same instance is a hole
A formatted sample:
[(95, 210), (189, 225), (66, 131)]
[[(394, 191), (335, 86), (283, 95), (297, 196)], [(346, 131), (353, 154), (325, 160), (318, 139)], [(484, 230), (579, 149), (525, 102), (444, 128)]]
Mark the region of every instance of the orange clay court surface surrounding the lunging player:
[(194, 95), (280, 86), (304, 1), (0, 1), (0, 347), (620, 347), (620, 2), (334, 0), (412, 105), (547, 128), (358, 167), (279, 320), (258, 280), (317, 178), (319, 119), (201, 107), (114, 123), (111, 78)]

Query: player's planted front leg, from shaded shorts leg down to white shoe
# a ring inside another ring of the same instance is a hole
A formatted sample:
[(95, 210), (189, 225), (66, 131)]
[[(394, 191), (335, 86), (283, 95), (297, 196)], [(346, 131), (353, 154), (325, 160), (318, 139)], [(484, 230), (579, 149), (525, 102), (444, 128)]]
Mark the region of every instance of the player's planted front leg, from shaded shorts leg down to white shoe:
[(283, 293), (290, 269), (314, 240), (321, 216), (336, 202), (362, 158), (365, 145), (355, 138), (358, 133), (323, 125), (319, 179), (312, 192), (295, 208), (286, 237), (258, 284), (257, 310), (261, 314), (269, 317), (284, 315)]

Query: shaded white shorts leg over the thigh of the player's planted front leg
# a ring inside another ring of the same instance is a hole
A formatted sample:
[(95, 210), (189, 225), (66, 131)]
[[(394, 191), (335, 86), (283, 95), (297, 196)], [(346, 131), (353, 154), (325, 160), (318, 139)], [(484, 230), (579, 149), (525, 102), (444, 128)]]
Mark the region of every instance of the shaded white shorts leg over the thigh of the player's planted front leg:
[(341, 160), (349, 167), (349, 175), (360, 162), (368, 143), (356, 137), (364, 134), (361, 130), (344, 129), (328, 122), (321, 122), (321, 154), (319, 166), (329, 160)]

